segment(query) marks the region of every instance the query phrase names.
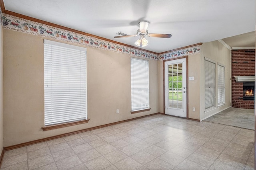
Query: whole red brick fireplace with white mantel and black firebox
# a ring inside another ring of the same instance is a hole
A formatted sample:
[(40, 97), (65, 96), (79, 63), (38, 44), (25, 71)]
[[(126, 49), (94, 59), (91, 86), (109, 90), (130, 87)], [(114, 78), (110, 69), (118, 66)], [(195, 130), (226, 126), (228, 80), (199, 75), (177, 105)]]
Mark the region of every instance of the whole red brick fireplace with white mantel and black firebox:
[(231, 61), (232, 107), (254, 109), (254, 95), (248, 98), (245, 92), (250, 90), (248, 84), (254, 85), (255, 49), (232, 50)]

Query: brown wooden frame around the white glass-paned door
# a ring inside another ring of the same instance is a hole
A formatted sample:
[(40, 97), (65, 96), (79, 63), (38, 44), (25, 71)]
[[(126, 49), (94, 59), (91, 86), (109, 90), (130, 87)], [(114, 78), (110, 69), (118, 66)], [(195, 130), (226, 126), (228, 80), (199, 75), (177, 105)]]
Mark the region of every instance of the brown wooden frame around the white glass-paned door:
[[(175, 58), (175, 59), (168, 59), (168, 60), (164, 60), (163, 61), (163, 75), (164, 75), (164, 70), (165, 70), (165, 62), (166, 61), (172, 61), (172, 60), (177, 60), (177, 59), (183, 59), (183, 58), (186, 58), (186, 75), (187, 75), (187, 77), (186, 77), (186, 84), (187, 84), (187, 87), (186, 87), (186, 96), (187, 96), (187, 115), (186, 115), (186, 119), (189, 119), (188, 118), (188, 56), (184, 56), (184, 57), (177, 57), (177, 58)], [(165, 75), (163, 76), (163, 77), (165, 77)], [(164, 82), (164, 84), (163, 84), (163, 89), (164, 89), (164, 115), (165, 115), (165, 78), (163, 78), (164, 80), (163, 80), (163, 82)], [(184, 117), (185, 118), (185, 117)]]

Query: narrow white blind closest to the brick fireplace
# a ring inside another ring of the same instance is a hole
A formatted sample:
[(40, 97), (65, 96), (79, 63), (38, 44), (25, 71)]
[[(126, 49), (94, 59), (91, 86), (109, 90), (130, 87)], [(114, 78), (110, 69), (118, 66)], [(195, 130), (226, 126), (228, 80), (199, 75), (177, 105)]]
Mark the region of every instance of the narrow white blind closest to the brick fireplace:
[(225, 67), (218, 64), (218, 106), (225, 103)]

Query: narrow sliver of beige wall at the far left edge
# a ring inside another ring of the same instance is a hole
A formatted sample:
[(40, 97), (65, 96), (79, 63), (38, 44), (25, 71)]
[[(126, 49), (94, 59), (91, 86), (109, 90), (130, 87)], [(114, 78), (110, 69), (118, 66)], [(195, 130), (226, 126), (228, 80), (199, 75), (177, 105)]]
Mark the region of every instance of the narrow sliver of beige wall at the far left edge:
[(0, 27), (0, 153), (4, 147), (3, 29)]

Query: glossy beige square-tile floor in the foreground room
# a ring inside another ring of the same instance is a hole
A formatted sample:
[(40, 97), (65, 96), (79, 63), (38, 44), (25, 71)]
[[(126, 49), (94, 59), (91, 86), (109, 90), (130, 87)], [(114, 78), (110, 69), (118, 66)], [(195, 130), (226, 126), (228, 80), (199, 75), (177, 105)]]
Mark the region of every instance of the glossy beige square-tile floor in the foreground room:
[(5, 152), (27, 169), (253, 170), (254, 131), (154, 115)]

